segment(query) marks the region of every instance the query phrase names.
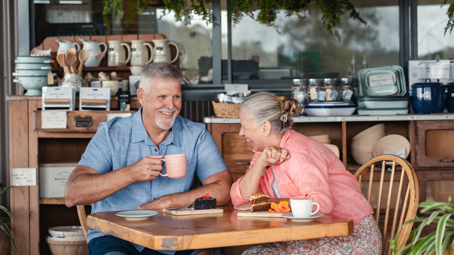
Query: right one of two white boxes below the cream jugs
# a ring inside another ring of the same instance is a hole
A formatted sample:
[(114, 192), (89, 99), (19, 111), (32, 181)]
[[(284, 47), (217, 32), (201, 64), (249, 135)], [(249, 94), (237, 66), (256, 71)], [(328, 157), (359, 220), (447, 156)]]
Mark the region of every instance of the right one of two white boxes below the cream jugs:
[(110, 88), (81, 87), (79, 111), (110, 111)]

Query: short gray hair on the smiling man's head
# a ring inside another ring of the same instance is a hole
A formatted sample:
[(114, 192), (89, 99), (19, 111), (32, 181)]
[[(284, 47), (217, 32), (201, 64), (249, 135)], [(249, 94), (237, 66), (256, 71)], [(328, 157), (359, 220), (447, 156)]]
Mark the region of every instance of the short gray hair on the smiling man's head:
[(147, 91), (153, 79), (161, 78), (164, 80), (183, 80), (183, 75), (171, 63), (167, 62), (152, 62), (146, 64), (142, 68), (140, 74), (139, 87)]

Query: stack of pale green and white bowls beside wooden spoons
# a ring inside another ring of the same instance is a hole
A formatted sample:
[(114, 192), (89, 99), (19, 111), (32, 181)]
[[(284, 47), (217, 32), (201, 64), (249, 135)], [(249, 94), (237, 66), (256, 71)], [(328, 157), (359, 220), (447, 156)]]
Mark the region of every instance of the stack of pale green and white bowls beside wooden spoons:
[[(27, 91), (25, 96), (41, 96), (42, 87), (48, 86), (47, 74), (52, 72), (52, 57), (16, 56), (14, 63), (13, 82)], [(54, 77), (56, 73), (52, 75)]]

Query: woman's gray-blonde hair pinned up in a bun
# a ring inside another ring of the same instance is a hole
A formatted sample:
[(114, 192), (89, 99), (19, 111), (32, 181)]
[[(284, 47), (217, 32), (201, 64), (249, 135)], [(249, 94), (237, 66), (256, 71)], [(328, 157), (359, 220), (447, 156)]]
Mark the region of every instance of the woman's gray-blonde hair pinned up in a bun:
[(287, 116), (295, 115), (297, 106), (296, 99), (281, 100), (270, 92), (258, 92), (247, 96), (240, 103), (240, 110), (247, 109), (257, 126), (268, 120), (272, 130), (284, 134), (293, 125), (293, 120)]

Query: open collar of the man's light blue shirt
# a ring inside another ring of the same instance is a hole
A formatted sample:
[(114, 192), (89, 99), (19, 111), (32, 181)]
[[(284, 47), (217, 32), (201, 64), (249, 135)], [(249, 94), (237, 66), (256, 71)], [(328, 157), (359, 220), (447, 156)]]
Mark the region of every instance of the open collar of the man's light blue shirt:
[[(175, 119), (175, 122), (173, 123), (173, 126), (170, 129), (170, 133), (167, 136), (166, 140), (164, 140), (161, 143), (162, 145), (168, 145), (168, 144), (173, 143), (176, 146), (180, 147), (181, 143), (180, 143), (180, 137), (178, 135), (178, 133), (180, 133), (180, 132), (173, 132), (173, 130), (181, 130), (181, 116), (179, 116), (179, 115)], [(140, 107), (140, 109), (133, 115), (133, 130), (132, 130), (132, 135), (131, 135), (131, 141), (132, 141), (132, 143), (145, 141), (145, 142), (154, 144), (153, 141), (148, 136), (145, 126), (143, 125), (142, 107)]]

